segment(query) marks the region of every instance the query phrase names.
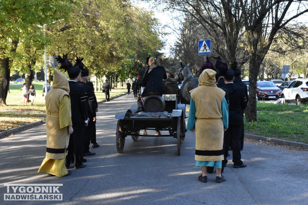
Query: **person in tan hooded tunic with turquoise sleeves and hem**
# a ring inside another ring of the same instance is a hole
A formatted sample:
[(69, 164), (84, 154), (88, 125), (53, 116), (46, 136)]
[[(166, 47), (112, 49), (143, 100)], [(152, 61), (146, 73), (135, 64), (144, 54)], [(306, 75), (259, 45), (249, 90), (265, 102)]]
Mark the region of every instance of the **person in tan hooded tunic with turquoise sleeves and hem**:
[(228, 128), (228, 104), (225, 91), (215, 85), (216, 72), (205, 69), (199, 77), (199, 85), (190, 91), (190, 108), (186, 128), (196, 131), (196, 167), (201, 167), (198, 180), (207, 182), (207, 167), (215, 167), (216, 182), (226, 179), (221, 175), (224, 159), (224, 131)]

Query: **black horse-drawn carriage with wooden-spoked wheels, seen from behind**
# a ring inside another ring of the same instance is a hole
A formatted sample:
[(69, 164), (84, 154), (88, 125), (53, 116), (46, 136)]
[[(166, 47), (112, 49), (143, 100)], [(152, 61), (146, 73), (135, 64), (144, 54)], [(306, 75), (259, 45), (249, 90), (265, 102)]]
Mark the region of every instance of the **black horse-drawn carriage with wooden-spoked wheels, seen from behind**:
[[(170, 87), (168, 87), (170, 86)], [(116, 148), (119, 153), (123, 152), (125, 138), (132, 136), (132, 140), (137, 141), (139, 136), (172, 136), (177, 142), (177, 153), (181, 153), (181, 144), (185, 139), (185, 104), (179, 104), (180, 90), (176, 83), (165, 84), (167, 88), (173, 90), (172, 94), (150, 95), (144, 100), (144, 112), (137, 111), (137, 104), (130, 109), (119, 110), (115, 118), (118, 119), (116, 127)], [(166, 92), (168, 93), (168, 92)], [(169, 92), (170, 93), (170, 92)], [(140, 134), (140, 130), (164, 131), (160, 135)]]

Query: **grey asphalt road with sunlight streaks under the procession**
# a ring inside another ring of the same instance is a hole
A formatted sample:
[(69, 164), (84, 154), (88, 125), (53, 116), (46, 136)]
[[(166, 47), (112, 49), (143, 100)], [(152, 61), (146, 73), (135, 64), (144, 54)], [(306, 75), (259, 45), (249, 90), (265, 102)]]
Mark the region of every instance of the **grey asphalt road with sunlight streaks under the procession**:
[[(58, 178), (37, 173), (45, 157), (45, 125), (0, 140), (0, 204), (4, 183), (63, 183), (63, 201), (18, 201), (18, 204), (308, 204), (308, 152), (245, 143), (246, 168), (225, 168), (224, 183), (197, 180), (194, 132), (188, 131), (177, 155), (172, 137), (140, 137), (125, 141), (124, 153), (115, 147), (115, 111), (136, 103), (125, 95), (99, 105), (97, 140), (87, 167), (71, 169)], [(231, 159), (231, 158), (229, 158)], [(12, 193), (12, 191), (10, 191)], [(60, 202), (60, 203), (59, 203)]]

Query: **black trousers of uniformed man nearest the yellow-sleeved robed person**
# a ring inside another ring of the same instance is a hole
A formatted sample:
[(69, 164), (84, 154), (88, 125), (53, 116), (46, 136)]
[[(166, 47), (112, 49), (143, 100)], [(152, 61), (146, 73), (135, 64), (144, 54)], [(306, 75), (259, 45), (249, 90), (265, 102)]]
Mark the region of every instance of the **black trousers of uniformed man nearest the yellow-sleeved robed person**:
[(82, 162), (80, 160), (83, 159), (85, 125), (73, 124), (72, 127), (74, 131), (70, 135), (65, 166), (69, 167), (71, 161), (74, 161), (74, 167), (79, 167), (80, 165), (82, 165)]

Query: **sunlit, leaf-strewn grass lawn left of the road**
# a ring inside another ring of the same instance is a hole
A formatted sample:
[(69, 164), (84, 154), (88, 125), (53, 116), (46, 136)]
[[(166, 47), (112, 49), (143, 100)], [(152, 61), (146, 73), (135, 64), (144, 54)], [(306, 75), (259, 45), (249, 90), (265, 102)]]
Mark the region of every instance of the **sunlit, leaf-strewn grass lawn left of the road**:
[[(0, 106), (0, 132), (16, 128), (31, 122), (46, 118), (45, 97), (43, 97), (43, 82), (33, 83), (36, 97), (33, 106), (28, 102), (22, 106), (22, 84), (10, 85), (10, 93), (6, 97), (6, 105)], [(126, 93), (124, 87), (111, 89), (110, 97)], [(105, 100), (103, 92), (95, 93), (97, 101)]]

